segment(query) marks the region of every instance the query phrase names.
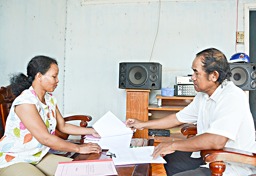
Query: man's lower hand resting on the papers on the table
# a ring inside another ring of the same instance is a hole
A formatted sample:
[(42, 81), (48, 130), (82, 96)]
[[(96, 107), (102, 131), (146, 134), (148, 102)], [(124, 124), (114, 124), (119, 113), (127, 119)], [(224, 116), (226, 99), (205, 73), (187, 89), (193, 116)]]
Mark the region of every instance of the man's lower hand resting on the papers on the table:
[(172, 142), (161, 142), (154, 148), (154, 152), (151, 156), (153, 159), (156, 159), (158, 155), (166, 156), (174, 152), (175, 150), (172, 150)]

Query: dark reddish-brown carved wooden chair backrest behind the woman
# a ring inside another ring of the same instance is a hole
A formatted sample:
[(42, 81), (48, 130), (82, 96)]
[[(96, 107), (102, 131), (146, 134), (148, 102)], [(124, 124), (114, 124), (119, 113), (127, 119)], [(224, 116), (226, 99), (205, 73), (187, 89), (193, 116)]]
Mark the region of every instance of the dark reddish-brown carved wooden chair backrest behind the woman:
[[(12, 102), (14, 101), (15, 96), (12, 93), (11, 87), (1, 87), (0, 89), (0, 116), (1, 116), (1, 126), (2, 132), (4, 133), (6, 118), (10, 112), (10, 108), (12, 106)], [(1, 137), (3, 136), (0, 131)]]

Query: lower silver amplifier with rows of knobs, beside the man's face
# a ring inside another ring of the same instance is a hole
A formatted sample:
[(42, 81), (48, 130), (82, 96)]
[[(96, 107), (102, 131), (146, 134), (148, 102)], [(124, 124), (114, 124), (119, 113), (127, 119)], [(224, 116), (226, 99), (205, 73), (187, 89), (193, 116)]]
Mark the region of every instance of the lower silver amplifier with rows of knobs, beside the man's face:
[(190, 84), (174, 85), (174, 88), (175, 96), (192, 97), (198, 94), (198, 92), (195, 90), (195, 87)]

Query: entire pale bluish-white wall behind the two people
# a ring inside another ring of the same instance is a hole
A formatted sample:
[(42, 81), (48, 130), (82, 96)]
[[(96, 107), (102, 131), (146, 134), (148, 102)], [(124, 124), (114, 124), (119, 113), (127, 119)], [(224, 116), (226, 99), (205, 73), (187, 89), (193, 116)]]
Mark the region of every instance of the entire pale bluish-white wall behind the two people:
[[(244, 31), (243, 4), (255, 2), (239, 0), (238, 31)], [(59, 109), (64, 104), (64, 116), (89, 114), (91, 126), (110, 110), (125, 120), (119, 63), (149, 61), (159, 2), (81, 6), (81, 0), (2, 0), (0, 5), (0, 86), (9, 84), (9, 72), (25, 72), (34, 55), (49, 55), (59, 61), (61, 82), (54, 94)], [(151, 62), (163, 65), (162, 87), (192, 74), (195, 54), (203, 49), (215, 47), (228, 59), (236, 52), (236, 6), (237, 0), (161, 2)], [(150, 103), (156, 94), (160, 90), (150, 93)]]

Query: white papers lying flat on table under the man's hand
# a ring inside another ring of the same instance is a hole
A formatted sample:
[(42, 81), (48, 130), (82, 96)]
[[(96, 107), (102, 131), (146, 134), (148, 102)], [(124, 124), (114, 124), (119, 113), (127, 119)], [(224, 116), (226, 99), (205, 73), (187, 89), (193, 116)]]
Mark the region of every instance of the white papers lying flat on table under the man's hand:
[(129, 149), (111, 149), (109, 152), (115, 154), (112, 157), (115, 165), (143, 164), (143, 163), (166, 163), (159, 155), (153, 160), (150, 155), (154, 152), (154, 146), (136, 147)]

